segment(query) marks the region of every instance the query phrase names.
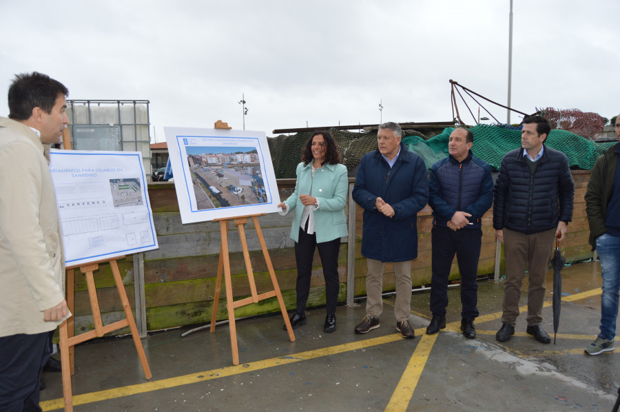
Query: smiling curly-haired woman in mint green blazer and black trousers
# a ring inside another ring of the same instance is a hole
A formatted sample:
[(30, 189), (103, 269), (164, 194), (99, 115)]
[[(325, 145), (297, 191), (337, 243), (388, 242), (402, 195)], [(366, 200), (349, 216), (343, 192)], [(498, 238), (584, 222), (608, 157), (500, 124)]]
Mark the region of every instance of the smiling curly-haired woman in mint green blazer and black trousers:
[(295, 192), (278, 205), (282, 207), (282, 216), (295, 209), (291, 239), (295, 240), (297, 261), (297, 311), (291, 317), (291, 326), (296, 329), (307, 322), (305, 310), (310, 293), (312, 258), (318, 248), (327, 300), (323, 330), (330, 333), (335, 331), (335, 307), (340, 290), (340, 238), (348, 236), (344, 206), (349, 183), (347, 167), (340, 164), (338, 148), (329, 132), (314, 132), (308, 139), (296, 173)]

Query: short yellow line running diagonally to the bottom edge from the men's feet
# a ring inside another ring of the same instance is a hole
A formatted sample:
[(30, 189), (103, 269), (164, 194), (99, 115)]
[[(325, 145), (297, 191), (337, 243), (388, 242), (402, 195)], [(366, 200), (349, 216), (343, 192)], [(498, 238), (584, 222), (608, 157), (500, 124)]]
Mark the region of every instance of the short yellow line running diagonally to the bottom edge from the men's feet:
[(422, 335), (420, 343), (415, 347), (409, 364), (407, 364), (385, 411), (407, 410), (407, 406), (409, 406), (409, 402), (413, 396), (413, 391), (415, 391), (415, 387), (417, 387), (417, 382), (420, 381), (420, 375), (422, 375), (422, 371), (424, 371), (426, 360), (428, 360), (428, 356), (431, 354), (431, 349), (433, 349), (437, 336), (439, 336), (439, 333), (435, 333), (434, 335)]

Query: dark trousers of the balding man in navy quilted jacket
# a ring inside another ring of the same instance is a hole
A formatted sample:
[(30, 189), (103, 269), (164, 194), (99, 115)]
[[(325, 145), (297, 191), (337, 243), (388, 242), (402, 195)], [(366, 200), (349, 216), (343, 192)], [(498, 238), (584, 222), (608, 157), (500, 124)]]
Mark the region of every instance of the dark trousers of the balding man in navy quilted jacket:
[(431, 278), (431, 312), (446, 316), (448, 306), (448, 276), (454, 255), (457, 256), (461, 272), (461, 317), (477, 318), (478, 309), (478, 260), (482, 246), (482, 229), (460, 229), (433, 227), (431, 245), (433, 262)]

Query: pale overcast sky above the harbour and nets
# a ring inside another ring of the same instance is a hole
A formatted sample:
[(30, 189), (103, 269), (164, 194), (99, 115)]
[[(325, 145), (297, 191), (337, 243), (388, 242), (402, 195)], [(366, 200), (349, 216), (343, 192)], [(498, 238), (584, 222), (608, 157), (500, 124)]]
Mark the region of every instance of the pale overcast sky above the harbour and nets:
[[(36, 70), (70, 99), (149, 100), (157, 141), (165, 126), (241, 129), (242, 94), (246, 129), (267, 136), (379, 123), (380, 101), (383, 121), (451, 121), (449, 79), (506, 104), (509, 11), (510, 0), (0, 0), (0, 115), (14, 74)], [(619, 19), (617, 0), (514, 0), (512, 106), (618, 114)]]

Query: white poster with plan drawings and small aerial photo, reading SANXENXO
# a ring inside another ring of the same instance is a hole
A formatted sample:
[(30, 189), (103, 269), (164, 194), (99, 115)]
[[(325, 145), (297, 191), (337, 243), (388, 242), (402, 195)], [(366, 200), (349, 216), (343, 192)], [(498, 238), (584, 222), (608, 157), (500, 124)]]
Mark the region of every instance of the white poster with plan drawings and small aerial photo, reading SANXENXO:
[(140, 152), (52, 150), (65, 265), (156, 249)]

